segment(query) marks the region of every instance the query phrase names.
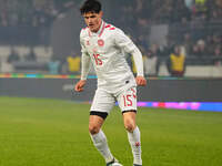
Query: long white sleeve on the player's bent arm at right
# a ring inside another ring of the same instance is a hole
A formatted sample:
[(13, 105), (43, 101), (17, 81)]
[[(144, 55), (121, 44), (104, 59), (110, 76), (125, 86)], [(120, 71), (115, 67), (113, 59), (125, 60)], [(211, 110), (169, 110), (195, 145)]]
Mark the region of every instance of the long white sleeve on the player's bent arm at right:
[(132, 40), (124, 34), (123, 31), (117, 30), (115, 35), (113, 35), (115, 39), (115, 44), (122, 49), (124, 52), (133, 55), (134, 64), (137, 68), (137, 75), (143, 76), (143, 60), (142, 60), (142, 53), (135, 46), (135, 44), (132, 42)]

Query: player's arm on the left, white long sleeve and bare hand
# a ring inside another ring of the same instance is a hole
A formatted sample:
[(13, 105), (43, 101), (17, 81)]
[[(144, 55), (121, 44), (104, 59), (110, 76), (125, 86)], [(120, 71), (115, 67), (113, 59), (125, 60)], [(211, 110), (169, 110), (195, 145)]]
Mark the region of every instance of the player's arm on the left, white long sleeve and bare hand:
[(82, 39), (82, 35), (83, 35), (82, 33), (83, 33), (83, 30), (80, 33), (80, 44), (81, 44), (81, 52), (82, 52), (81, 80), (74, 86), (74, 91), (77, 92), (83, 91), (83, 87), (87, 83), (87, 76), (90, 70), (90, 55), (88, 54), (88, 51), (85, 49), (84, 41)]

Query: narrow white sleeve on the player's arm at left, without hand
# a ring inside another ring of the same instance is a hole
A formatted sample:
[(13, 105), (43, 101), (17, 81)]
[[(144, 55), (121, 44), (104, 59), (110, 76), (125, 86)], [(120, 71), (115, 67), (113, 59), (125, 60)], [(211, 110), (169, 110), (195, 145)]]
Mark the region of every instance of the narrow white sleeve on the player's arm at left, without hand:
[(90, 56), (87, 52), (87, 49), (84, 46), (83, 40), (81, 39), (81, 35), (80, 35), (80, 44), (81, 44), (81, 52), (82, 52), (81, 80), (87, 80), (87, 76), (90, 70)]

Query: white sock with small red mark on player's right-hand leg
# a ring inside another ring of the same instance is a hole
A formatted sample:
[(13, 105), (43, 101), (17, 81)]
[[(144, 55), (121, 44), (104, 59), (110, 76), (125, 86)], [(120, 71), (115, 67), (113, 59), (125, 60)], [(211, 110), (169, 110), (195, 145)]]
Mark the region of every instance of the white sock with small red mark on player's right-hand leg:
[(135, 127), (135, 129), (132, 133), (128, 132), (128, 139), (132, 148), (133, 164), (142, 165), (142, 158), (141, 158), (142, 151), (141, 151), (139, 127)]

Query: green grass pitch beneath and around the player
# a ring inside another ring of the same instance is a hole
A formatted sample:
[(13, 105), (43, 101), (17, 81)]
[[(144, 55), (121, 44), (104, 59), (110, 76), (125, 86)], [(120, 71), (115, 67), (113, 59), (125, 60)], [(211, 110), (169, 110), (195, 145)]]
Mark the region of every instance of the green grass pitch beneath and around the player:
[[(0, 97), (0, 166), (104, 166), (88, 132), (88, 104)], [(221, 166), (222, 113), (139, 108), (143, 166)], [(103, 131), (114, 156), (132, 166), (121, 113)]]

